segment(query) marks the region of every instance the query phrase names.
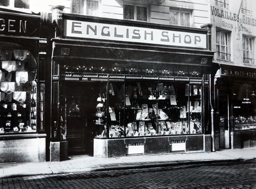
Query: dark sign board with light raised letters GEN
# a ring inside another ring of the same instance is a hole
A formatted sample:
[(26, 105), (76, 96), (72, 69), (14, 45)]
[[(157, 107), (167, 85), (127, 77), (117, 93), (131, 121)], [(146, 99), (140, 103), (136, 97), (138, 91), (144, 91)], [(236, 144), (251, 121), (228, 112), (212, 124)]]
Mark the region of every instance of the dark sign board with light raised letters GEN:
[(40, 16), (0, 11), (0, 35), (39, 37)]

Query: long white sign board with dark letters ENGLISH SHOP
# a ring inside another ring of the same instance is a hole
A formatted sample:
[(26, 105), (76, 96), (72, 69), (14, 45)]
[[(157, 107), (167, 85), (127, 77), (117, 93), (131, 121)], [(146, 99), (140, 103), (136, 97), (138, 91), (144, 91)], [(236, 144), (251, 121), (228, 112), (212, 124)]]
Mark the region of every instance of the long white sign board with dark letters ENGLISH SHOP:
[(64, 36), (172, 45), (176, 47), (207, 48), (207, 36), (202, 33), (83, 22), (68, 19), (64, 20)]

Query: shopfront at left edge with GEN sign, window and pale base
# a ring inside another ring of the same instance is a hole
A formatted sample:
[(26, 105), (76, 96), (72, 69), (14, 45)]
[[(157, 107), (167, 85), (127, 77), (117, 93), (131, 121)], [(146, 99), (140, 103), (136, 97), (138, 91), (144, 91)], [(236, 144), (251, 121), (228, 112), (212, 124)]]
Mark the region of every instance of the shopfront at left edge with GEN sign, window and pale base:
[(0, 9), (0, 162), (46, 161), (40, 14)]

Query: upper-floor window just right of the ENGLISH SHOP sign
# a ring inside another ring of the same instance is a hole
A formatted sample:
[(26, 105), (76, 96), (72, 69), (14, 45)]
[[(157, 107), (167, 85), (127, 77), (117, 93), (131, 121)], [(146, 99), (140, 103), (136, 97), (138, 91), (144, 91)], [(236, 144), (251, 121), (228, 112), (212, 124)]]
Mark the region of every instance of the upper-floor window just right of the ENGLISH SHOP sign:
[(221, 60), (230, 60), (229, 54), (229, 33), (216, 31), (217, 58)]

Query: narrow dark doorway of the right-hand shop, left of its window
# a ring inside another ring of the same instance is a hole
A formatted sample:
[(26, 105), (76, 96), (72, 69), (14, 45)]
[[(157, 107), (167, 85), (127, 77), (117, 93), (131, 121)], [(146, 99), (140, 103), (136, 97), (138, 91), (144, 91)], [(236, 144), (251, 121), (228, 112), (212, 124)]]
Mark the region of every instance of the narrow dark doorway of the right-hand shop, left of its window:
[(220, 113), (220, 148), (230, 148), (228, 90), (218, 89), (218, 112)]

